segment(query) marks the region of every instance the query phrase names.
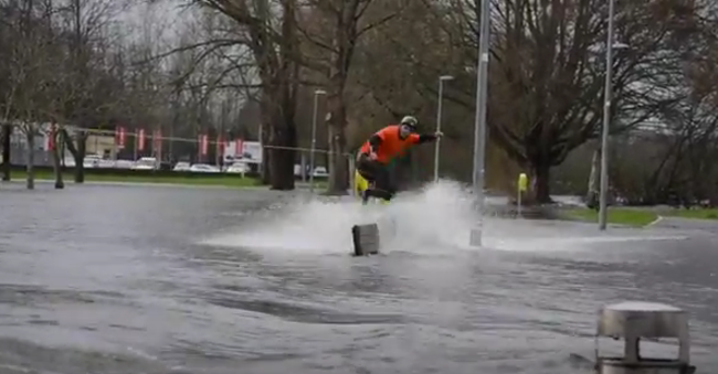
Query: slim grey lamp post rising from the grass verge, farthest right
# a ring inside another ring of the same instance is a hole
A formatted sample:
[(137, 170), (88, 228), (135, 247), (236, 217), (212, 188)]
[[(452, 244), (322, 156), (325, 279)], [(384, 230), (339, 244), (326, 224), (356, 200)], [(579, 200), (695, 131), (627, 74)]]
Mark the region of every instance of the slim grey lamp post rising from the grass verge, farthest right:
[(601, 129), (601, 188), (599, 196), (599, 229), (604, 231), (609, 216), (609, 126), (613, 89), (613, 12), (614, 0), (609, 0), (609, 32), (605, 43), (605, 86), (603, 88), (603, 128)]

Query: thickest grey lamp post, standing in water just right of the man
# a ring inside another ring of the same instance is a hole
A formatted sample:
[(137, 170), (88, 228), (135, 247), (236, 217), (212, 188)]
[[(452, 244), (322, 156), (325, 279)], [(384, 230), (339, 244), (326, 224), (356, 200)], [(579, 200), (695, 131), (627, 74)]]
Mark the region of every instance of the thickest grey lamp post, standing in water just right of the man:
[(474, 125), (474, 175), (476, 209), (479, 214), (478, 228), (472, 231), (471, 245), (481, 246), (484, 214), (484, 169), (486, 152), (486, 95), (488, 92), (488, 43), (490, 30), (490, 0), (482, 0), (476, 74), (476, 121)]

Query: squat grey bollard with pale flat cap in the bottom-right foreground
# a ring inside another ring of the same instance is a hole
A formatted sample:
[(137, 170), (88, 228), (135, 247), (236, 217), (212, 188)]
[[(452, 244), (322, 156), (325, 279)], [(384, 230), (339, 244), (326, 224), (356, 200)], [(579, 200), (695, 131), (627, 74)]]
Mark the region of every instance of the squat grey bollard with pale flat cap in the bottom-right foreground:
[[(624, 340), (623, 356), (603, 356), (595, 349), (599, 374), (690, 374), (688, 317), (679, 308), (654, 302), (621, 302), (606, 306), (599, 313), (599, 336)], [(675, 360), (641, 356), (641, 339), (678, 339)]]

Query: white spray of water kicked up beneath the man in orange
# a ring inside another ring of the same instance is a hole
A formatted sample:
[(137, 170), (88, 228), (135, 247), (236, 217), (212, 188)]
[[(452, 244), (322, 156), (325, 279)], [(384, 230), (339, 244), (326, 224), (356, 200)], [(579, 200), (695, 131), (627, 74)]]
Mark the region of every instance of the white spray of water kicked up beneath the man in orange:
[(471, 194), (456, 182), (440, 181), (399, 194), (389, 205), (361, 205), (356, 199), (315, 199), (273, 210), (249, 226), (203, 244), (305, 254), (351, 252), (351, 226), (378, 223), (382, 249), (439, 250), (468, 241), (476, 221)]

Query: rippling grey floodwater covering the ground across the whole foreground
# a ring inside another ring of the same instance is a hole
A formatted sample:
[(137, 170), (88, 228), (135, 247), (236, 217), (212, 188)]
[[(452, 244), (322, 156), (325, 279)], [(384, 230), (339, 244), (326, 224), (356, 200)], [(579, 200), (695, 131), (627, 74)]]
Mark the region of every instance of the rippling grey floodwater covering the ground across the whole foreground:
[(351, 258), (349, 207), (287, 204), (262, 190), (3, 184), (0, 373), (589, 372), (571, 354), (592, 357), (595, 311), (624, 299), (688, 310), (698, 373), (718, 368), (708, 232), (567, 246), (497, 222), (493, 248), (469, 249), (421, 236), (447, 221), (434, 207), (405, 214), (402, 250)]

